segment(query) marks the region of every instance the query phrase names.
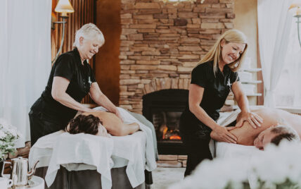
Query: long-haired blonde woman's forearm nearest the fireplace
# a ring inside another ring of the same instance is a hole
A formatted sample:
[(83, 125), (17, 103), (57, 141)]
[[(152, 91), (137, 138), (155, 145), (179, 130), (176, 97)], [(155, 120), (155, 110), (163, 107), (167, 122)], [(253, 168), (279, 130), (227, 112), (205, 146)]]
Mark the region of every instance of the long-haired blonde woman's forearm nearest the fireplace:
[(189, 109), (198, 118), (198, 120), (202, 121), (202, 123), (204, 123), (212, 130), (219, 127), (219, 125), (199, 105), (196, 106), (190, 105)]

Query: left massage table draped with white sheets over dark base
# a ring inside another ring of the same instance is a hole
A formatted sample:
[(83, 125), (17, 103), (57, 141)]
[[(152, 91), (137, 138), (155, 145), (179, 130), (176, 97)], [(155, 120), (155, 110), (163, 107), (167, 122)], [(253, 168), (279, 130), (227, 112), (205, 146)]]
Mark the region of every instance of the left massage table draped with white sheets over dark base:
[[(96, 108), (105, 111), (102, 107)], [(139, 123), (140, 130), (123, 137), (100, 137), (60, 130), (40, 138), (30, 150), (30, 166), (39, 160), (36, 176), (46, 188), (148, 188), (153, 183), (158, 152), (153, 130), (118, 108), (124, 123)]]

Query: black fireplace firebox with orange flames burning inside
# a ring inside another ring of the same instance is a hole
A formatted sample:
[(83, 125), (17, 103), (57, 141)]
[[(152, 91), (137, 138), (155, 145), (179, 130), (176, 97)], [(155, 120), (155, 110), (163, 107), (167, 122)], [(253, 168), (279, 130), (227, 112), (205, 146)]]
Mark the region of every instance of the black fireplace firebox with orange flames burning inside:
[(187, 104), (188, 90), (159, 90), (143, 96), (143, 116), (155, 127), (159, 154), (186, 154), (179, 118)]

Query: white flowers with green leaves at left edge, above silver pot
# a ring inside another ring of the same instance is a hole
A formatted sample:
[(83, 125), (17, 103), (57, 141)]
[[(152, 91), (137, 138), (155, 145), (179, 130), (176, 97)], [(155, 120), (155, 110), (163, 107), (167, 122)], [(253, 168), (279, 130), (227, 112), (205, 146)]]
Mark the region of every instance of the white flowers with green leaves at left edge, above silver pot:
[(15, 152), (15, 140), (20, 138), (17, 128), (11, 126), (6, 120), (0, 118), (0, 161)]

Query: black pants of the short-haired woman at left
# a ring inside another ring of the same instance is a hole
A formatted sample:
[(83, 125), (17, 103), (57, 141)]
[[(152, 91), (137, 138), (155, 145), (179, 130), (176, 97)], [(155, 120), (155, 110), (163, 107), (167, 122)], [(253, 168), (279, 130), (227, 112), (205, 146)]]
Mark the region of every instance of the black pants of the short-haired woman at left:
[(44, 135), (49, 135), (62, 129), (60, 123), (55, 123), (45, 118), (41, 112), (31, 110), (28, 115), (30, 116), (30, 141), (32, 146)]

